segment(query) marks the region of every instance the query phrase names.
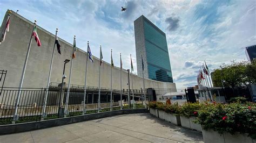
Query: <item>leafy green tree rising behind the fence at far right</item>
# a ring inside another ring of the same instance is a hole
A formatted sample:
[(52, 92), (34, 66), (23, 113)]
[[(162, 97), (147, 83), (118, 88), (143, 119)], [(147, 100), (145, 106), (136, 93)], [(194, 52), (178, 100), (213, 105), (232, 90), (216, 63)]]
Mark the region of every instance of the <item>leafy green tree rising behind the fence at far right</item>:
[[(212, 73), (212, 81), (215, 87), (256, 83), (256, 60), (250, 62), (232, 61), (230, 65), (223, 64)], [(221, 81), (224, 81), (221, 83)]]

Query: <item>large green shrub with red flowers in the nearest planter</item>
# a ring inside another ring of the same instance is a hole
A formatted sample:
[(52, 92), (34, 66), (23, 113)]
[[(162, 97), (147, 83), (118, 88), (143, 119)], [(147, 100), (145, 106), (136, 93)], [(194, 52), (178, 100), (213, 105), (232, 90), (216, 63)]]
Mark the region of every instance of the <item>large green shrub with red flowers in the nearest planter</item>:
[(220, 134), (248, 133), (255, 139), (256, 105), (255, 103), (206, 104), (198, 111), (197, 122), (204, 130), (212, 129)]

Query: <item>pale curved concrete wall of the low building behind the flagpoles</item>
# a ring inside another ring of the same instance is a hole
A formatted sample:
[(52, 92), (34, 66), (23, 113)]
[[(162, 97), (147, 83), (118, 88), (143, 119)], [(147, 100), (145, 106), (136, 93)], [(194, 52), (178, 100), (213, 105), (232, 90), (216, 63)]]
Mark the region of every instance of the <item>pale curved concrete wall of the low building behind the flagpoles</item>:
[[(8, 70), (4, 87), (18, 87), (26, 52), (28, 50), (29, 39), (33, 29), (33, 23), (14, 11), (11, 13), (10, 20), (10, 31), (6, 34), (5, 41), (0, 45), (0, 69)], [(5, 20), (3, 21), (5, 22)], [(36, 41), (34, 39), (32, 40), (23, 87), (44, 88), (47, 84), (55, 35), (39, 26), (37, 28), (37, 33), (42, 46), (38, 47)], [(56, 49), (50, 80), (50, 82), (58, 83), (62, 82), (63, 61), (65, 59), (71, 59), (72, 55), (72, 44), (69, 44), (60, 38), (59, 41), (62, 55), (59, 55)], [(79, 48), (77, 49), (76, 59), (73, 61), (71, 84), (84, 85), (86, 56), (86, 52)], [(99, 59), (95, 57), (93, 58), (95, 59), (95, 62), (89, 62), (88, 65), (87, 85), (98, 87)], [(67, 63), (65, 70), (67, 78), (65, 78), (64, 81), (66, 83), (68, 83), (69, 79), (69, 70), (70, 63)], [(127, 89), (127, 71), (123, 70), (122, 72), (123, 89)], [(101, 87), (110, 88), (110, 74), (111, 65), (103, 62)], [(143, 78), (134, 74), (132, 75), (132, 78), (134, 89), (143, 88)], [(120, 68), (117, 67), (113, 68), (113, 88), (120, 89)], [(176, 85), (174, 83), (145, 79), (145, 88), (176, 88)]]

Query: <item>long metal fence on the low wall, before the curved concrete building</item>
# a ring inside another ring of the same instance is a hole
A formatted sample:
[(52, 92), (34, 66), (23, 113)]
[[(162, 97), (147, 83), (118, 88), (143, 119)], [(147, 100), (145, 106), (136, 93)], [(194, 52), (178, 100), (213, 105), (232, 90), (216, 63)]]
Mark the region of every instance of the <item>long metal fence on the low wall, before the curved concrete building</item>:
[[(16, 103), (18, 92), (21, 92), (19, 103)], [(16, 124), (28, 121), (39, 121), (53, 118), (63, 118), (89, 113), (106, 112), (111, 110), (146, 108), (144, 90), (87, 89), (84, 103), (84, 89), (70, 89), (68, 104), (66, 104), (67, 89), (60, 91), (52, 88), (48, 91), (45, 112), (44, 103), (47, 90), (45, 88), (3, 88), (0, 96), (0, 125)], [(133, 96), (132, 96), (133, 95)], [(129, 98), (130, 97), (130, 98)], [(98, 102), (100, 99), (100, 102)], [(17, 106), (16, 106), (17, 105)], [(15, 114), (15, 109), (17, 114)], [(15, 115), (18, 118), (14, 118)]]

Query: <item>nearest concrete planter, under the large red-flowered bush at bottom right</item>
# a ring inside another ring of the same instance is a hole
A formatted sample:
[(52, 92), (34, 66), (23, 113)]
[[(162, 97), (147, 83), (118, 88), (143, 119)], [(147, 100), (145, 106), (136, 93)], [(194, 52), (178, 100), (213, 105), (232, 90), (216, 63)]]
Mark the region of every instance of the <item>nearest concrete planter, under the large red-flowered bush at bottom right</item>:
[(255, 140), (248, 137), (247, 134), (236, 133), (234, 135), (230, 133), (219, 134), (213, 130), (203, 130), (203, 138), (205, 143), (219, 142), (219, 143), (236, 143), (236, 142), (246, 142), (253, 143)]

